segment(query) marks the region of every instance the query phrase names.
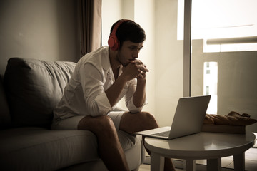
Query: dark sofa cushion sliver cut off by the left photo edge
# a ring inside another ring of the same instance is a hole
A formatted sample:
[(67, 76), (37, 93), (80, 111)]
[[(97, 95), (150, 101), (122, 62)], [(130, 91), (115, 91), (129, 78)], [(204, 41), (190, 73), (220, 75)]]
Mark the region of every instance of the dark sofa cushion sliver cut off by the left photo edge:
[(4, 86), (0, 78), (0, 129), (7, 128), (11, 125), (11, 117), (9, 113), (8, 103), (6, 101), (6, 95), (4, 93)]

